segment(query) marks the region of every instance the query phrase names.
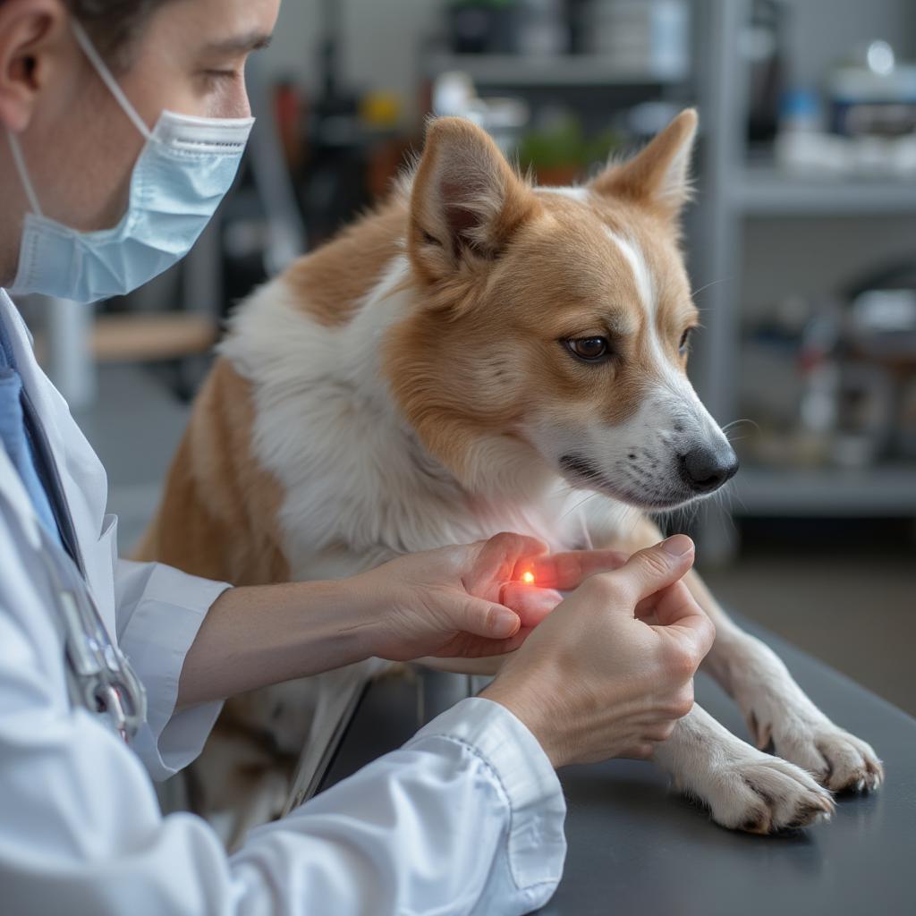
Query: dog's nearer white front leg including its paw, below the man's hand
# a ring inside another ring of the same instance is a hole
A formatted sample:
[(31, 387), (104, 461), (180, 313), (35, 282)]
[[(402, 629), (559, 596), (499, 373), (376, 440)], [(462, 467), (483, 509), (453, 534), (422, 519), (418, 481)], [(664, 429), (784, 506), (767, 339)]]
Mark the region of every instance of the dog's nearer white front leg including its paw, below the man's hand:
[(675, 726), (654, 759), (716, 823), (733, 830), (770, 834), (829, 818), (834, 810), (830, 793), (803, 769), (750, 747), (700, 706)]

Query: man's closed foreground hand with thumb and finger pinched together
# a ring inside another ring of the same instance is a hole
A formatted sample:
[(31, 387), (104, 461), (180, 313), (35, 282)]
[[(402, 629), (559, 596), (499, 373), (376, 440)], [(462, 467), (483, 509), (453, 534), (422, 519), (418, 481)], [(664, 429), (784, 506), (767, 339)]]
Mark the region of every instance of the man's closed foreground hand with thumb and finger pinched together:
[(677, 535), (587, 579), (481, 694), (529, 727), (551, 763), (648, 758), (693, 704), (715, 630), (682, 577)]

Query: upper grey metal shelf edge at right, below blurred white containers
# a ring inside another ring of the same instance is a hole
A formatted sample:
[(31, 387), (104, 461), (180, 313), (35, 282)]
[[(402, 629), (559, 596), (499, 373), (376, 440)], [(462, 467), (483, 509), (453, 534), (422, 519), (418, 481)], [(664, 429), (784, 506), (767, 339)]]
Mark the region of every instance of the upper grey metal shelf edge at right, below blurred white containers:
[(732, 205), (748, 216), (916, 216), (916, 180), (802, 176), (748, 166), (729, 182)]

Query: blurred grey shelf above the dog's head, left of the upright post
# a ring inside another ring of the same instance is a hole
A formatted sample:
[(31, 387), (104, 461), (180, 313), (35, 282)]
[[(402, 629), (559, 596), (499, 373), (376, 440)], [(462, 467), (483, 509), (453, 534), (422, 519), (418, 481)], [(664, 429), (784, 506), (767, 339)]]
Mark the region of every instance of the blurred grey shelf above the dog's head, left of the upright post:
[(458, 70), (474, 82), (496, 86), (660, 86), (680, 83), (684, 74), (622, 71), (613, 60), (592, 54), (431, 54), (431, 75)]

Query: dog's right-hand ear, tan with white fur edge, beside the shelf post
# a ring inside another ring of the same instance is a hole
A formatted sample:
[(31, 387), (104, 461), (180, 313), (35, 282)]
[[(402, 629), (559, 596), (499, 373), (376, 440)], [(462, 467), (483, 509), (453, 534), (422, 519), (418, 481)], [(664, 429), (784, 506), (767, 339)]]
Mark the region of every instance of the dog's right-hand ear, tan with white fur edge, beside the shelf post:
[(608, 166), (592, 182), (599, 194), (649, 204), (676, 218), (690, 200), (690, 164), (696, 136), (696, 111), (682, 111), (637, 156)]

